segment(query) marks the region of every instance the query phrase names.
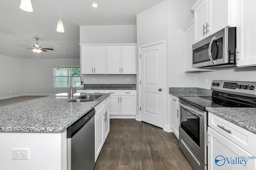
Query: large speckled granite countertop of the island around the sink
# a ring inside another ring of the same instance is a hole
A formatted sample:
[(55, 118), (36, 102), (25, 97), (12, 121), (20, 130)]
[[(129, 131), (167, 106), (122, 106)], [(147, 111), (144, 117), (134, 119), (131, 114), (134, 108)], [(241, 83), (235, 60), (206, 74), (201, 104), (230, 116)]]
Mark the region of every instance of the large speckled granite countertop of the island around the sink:
[(110, 96), (92, 95), (102, 96), (92, 102), (68, 102), (68, 94), (60, 93), (0, 107), (0, 132), (61, 132)]

